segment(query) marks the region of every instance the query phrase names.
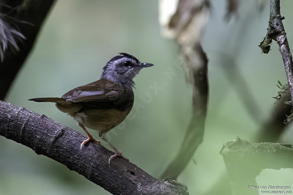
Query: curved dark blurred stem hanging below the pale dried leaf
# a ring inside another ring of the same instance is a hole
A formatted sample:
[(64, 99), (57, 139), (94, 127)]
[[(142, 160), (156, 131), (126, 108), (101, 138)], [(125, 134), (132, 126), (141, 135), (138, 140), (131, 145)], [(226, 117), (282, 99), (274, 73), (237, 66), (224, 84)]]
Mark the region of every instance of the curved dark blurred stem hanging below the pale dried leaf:
[(187, 66), (189, 68), (197, 67), (196, 70), (188, 72), (193, 73), (193, 114), (183, 143), (161, 178), (176, 179), (203, 141), (208, 97), (207, 58), (200, 43), (195, 44), (189, 52), (184, 51), (183, 53)]

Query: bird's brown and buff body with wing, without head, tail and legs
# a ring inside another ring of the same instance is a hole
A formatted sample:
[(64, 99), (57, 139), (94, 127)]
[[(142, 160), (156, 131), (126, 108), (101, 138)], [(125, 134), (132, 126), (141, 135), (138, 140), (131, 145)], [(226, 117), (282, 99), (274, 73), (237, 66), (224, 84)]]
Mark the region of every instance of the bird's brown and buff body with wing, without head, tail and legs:
[(66, 101), (57, 102), (57, 108), (77, 122), (90, 129), (110, 130), (129, 114), (134, 93), (123, 84), (100, 79), (70, 90), (62, 99)]

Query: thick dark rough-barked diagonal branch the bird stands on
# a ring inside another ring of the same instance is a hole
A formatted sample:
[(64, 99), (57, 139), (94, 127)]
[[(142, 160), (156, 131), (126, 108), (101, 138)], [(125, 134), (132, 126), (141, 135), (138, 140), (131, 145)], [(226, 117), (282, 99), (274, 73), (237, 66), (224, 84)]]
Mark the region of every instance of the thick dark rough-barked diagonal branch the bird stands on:
[(0, 135), (66, 165), (112, 194), (188, 194), (175, 180), (156, 179), (136, 165), (91, 142), (80, 149), (85, 136), (45, 115), (0, 101)]

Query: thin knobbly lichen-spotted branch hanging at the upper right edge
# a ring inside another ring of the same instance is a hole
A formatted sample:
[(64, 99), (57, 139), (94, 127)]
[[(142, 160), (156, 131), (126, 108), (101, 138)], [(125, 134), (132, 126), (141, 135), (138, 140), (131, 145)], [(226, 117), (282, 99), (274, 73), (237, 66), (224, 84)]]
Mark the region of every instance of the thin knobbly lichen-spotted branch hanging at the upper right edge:
[[(267, 35), (264, 40), (260, 43), (259, 47), (263, 53), (267, 54), (270, 51), (272, 40), (275, 40), (279, 47), (280, 53), (285, 66), (285, 71), (288, 79), (289, 90), (291, 93), (291, 101), (293, 100), (293, 61), (290, 52), (286, 32), (282, 20), (285, 19), (281, 16), (280, 11), (280, 0), (270, 1), (270, 20)], [(292, 101), (293, 102), (293, 101)]]

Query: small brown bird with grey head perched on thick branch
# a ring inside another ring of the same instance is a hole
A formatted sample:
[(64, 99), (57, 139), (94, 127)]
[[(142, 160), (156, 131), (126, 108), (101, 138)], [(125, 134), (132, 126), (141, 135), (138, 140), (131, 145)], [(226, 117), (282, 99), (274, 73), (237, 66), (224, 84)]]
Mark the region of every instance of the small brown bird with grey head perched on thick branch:
[(35, 102), (55, 102), (60, 111), (73, 117), (88, 136), (81, 143), (80, 148), (89, 141), (100, 144), (86, 127), (98, 130), (99, 137), (115, 151), (108, 160), (109, 165), (117, 156), (128, 159), (105, 138), (105, 134), (119, 125), (132, 109), (135, 85), (133, 78), (142, 68), (154, 66), (150, 63), (141, 63), (131, 54), (123, 52), (118, 54), (103, 67), (100, 80), (74, 88), (61, 98), (29, 99)]

